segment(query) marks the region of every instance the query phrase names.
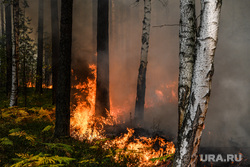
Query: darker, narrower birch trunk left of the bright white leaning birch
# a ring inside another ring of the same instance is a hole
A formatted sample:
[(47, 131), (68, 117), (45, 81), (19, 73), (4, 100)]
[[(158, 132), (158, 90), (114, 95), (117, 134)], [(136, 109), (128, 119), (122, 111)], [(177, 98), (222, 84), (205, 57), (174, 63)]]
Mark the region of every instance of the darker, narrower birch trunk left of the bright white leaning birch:
[[(178, 87), (178, 139), (181, 140), (180, 129), (188, 109), (192, 84), (195, 43), (196, 43), (195, 0), (180, 0), (180, 51), (179, 51), (179, 87)], [(180, 156), (176, 148), (175, 158)]]

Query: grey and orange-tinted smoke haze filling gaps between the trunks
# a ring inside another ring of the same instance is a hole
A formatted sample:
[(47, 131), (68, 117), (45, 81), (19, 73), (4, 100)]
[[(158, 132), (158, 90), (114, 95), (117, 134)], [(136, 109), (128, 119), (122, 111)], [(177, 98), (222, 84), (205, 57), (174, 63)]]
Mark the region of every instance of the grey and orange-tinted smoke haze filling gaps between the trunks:
[[(111, 1), (111, 0), (110, 0)], [(38, 0), (28, 0), (34, 37), (37, 33)], [(113, 0), (110, 9), (110, 93), (114, 108), (129, 117), (135, 107), (140, 60), (143, 1)], [(164, 3), (167, 2), (167, 3)], [(50, 33), (50, 1), (45, 3), (45, 31)], [(197, 0), (197, 16), (199, 1)], [(215, 56), (212, 94), (202, 145), (250, 143), (250, 1), (225, 0), (222, 6), (219, 42)], [(87, 77), (88, 64), (95, 63), (92, 0), (74, 0), (72, 68)], [(179, 1), (152, 0), (152, 22), (147, 69), (146, 120), (177, 134)], [(209, 135), (210, 134), (210, 135)]]

